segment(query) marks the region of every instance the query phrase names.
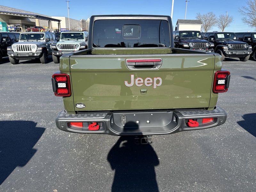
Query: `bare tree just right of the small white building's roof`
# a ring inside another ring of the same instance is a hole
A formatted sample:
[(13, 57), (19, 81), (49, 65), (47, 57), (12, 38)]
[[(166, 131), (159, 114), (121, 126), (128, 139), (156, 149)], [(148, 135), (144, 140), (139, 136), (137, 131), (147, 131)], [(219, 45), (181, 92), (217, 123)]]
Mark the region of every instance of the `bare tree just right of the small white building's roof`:
[(204, 32), (209, 31), (216, 24), (216, 16), (213, 12), (208, 12), (204, 15), (196, 13), (196, 19), (202, 21), (203, 25), (201, 30), (204, 30)]

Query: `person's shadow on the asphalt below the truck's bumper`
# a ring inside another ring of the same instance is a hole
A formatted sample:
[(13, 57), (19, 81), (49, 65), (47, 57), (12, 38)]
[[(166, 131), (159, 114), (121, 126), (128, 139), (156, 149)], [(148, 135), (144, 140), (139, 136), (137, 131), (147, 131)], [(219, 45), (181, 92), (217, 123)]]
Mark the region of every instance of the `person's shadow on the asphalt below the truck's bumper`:
[(158, 191), (154, 167), (159, 160), (150, 144), (135, 144), (134, 136), (121, 136), (109, 151), (108, 162), (115, 170), (112, 192)]

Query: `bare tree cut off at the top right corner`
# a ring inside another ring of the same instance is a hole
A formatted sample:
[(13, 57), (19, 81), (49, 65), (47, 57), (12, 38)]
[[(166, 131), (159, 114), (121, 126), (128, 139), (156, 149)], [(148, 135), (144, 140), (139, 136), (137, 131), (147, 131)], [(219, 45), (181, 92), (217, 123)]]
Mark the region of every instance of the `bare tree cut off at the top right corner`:
[(244, 15), (242, 21), (251, 27), (256, 27), (256, 0), (247, 0), (247, 6), (239, 8), (239, 12)]

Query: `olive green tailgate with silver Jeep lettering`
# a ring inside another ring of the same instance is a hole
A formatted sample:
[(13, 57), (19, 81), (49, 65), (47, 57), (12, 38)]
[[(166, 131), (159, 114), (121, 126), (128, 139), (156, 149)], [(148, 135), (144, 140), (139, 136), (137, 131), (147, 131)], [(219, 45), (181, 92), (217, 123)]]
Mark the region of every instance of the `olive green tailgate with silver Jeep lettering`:
[[(128, 69), (127, 60), (139, 59), (160, 59), (161, 66)], [(76, 111), (209, 107), (213, 54), (72, 55), (69, 61)]]

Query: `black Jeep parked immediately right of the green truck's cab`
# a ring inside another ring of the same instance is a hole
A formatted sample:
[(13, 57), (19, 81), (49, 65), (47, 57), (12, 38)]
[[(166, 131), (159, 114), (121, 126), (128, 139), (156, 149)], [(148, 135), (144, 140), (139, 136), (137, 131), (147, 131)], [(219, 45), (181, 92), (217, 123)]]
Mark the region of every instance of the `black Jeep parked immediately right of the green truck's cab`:
[(173, 31), (176, 48), (213, 52), (214, 44), (202, 38), (200, 31)]

